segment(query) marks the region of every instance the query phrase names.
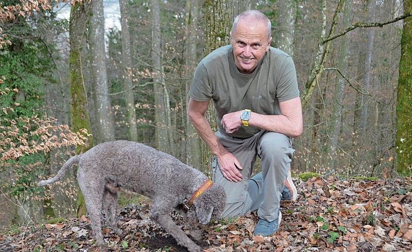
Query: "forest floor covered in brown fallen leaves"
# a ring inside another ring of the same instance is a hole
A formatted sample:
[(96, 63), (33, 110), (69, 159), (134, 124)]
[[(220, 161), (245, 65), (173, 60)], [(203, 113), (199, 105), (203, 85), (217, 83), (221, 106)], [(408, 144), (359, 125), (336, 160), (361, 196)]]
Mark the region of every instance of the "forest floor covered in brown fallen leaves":
[[(255, 213), (202, 227), (200, 246), (212, 251), (411, 251), (412, 180), (294, 180), (299, 197), (282, 201), (280, 230), (253, 236)], [(112, 251), (187, 251), (148, 218), (150, 205), (118, 212), (122, 235), (104, 228)], [(182, 218), (171, 213), (186, 229)], [(87, 216), (32, 224), (0, 233), (0, 251), (98, 251)]]

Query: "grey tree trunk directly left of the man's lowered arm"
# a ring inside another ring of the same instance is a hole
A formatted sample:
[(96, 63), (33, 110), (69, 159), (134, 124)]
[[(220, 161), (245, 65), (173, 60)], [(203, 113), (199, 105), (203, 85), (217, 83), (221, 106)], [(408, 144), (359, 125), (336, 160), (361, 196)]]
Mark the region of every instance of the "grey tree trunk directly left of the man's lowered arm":
[[(185, 29), (185, 94), (189, 93), (193, 72), (196, 67), (196, 35), (198, 19), (198, 0), (186, 1), (186, 29)], [(185, 96), (185, 104), (189, 103), (189, 96)], [(201, 141), (190, 120), (186, 117), (186, 164), (201, 169)]]

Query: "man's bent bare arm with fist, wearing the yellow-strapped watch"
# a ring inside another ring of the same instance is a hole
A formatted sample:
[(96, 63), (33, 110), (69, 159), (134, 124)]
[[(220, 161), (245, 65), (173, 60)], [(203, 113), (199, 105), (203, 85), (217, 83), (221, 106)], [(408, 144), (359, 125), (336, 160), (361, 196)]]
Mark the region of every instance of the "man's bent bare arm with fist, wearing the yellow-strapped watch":
[[(249, 124), (253, 127), (269, 131), (278, 132), (286, 136), (297, 138), (303, 131), (302, 104), (299, 97), (282, 101), (279, 103), (280, 115), (263, 115), (252, 111)], [(225, 114), (222, 118), (222, 126), (227, 133), (239, 130), (242, 122), (240, 114), (236, 111)]]

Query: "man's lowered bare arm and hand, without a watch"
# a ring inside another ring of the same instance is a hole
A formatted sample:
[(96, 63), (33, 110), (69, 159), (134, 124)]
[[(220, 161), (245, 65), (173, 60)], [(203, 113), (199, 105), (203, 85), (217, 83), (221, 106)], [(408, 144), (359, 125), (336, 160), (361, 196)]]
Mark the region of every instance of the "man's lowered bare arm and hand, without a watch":
[(236, 167), (242, 169), (237, 158), (219, 142), (204, 113), (208, 109), (209, 101), (195, 101), (192, 98), (187, 106), (187, 116), (193, 124), (201, 139), (209, 146), (216, 155), (222, 174), (229, 181), (240, 181), (242, 175)]

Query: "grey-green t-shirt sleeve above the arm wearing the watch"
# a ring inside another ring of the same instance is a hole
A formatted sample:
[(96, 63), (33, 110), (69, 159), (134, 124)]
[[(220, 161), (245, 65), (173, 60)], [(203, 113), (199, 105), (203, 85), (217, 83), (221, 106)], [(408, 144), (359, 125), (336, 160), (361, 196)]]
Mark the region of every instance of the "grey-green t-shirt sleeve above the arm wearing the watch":
[(290, 56), (285, 57), (279, 68), (276, 94), (279, 102), (299, 97), (298, 80), (295, 64)]

